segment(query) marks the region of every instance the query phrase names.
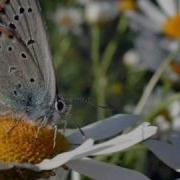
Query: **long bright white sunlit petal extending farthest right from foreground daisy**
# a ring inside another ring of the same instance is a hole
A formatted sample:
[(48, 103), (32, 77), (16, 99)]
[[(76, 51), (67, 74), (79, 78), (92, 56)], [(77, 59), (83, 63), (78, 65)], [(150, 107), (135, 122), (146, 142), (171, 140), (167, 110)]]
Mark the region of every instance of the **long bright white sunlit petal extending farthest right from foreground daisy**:
[(94, 153), (93, 155), (106, 155), (106, 154), (112, 154), (115, 152), (123, 151), (153, 136), (156, 133), (156, 131), (157, 131), (157, 127), (149, 126), (148, 123), (143, 123), (140, 126), (138, 126), (136, 129), (134, 129), (133, 131), (127, 134), (117, 136), (107, 142), (96, 145), (96, 148), (105, 147), (105, 146), (107, 146), (107, 148), (104, 148), (101, 151)]

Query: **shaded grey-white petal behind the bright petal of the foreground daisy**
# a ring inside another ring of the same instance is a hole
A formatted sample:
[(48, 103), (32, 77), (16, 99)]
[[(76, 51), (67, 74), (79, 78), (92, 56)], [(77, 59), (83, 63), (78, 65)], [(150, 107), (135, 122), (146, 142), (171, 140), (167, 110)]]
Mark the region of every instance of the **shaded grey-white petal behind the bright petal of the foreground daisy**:
[[(118, 114), (85, 126), (82, 130), (86, 138), (103, 140), (118, 134), (130, 126), (133, 126), (137, 122), (138, 118), (139, 116), (135, 115)], [(84, 137), (79, 130), (76, 130), (67, 138), (72, 144), (81, 144), (84, 141)]]

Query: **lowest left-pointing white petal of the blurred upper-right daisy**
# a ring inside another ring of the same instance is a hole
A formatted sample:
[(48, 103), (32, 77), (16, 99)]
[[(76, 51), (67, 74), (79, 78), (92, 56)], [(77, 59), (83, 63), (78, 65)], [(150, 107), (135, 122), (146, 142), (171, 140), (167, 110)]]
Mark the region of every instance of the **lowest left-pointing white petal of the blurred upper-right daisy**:
[(125, 15), (129, 18), (130, 23), (132, 23), (133, 26), (136, 25), (135, 27), (137, 29), (145, 28), (155, 33), (161, 32), (161, 25), (155, 23), (148, 17), (145, 17), (136, 12), (127, 12)]

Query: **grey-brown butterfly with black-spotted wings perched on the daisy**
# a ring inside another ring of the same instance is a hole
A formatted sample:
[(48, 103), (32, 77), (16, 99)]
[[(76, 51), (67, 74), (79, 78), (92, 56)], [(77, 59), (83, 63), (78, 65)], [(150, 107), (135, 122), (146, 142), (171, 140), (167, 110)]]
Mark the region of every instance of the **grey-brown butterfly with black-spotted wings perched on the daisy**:
[(38, 0), (0, 1), (0, 114), (52, 121), (66, 111), (58, 96)]

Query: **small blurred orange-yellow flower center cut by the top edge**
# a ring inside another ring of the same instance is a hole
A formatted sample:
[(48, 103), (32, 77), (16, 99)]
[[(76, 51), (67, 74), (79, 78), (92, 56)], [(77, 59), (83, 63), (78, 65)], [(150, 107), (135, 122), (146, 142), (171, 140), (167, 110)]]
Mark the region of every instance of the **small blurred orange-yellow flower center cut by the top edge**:
[(120, 0), (119, 1), (119, 8), (120, 11), (126, 12), (126, 11), (134, 11), (136, 10), (136, 2), (135, 0)]

